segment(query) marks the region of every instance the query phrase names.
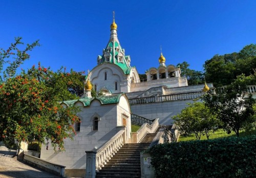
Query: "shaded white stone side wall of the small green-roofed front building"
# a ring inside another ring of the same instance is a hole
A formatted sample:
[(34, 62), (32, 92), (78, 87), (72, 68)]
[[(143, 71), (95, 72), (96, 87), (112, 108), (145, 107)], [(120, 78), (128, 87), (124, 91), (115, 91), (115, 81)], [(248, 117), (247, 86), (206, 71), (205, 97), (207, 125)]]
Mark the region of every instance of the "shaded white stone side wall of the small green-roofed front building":
[[(73, 141), (65, 140), (66, 151), (55, 154), (51, 146), (46, 150), (46, 146), (42, 145), (40, 158), (66, 166), (67, 169), (85, 169), (85, 151), (100, 147), (116, 134), (116, 126), (120, 124), (117, 120), (121, 120), (119, 110), (117, 112), (117, 105), (101, 106), (98, 100), (92, 101), (90, 107), (83, 107), (78, 114), (81, 129)], [(98, 131), (93, 131), (93, 116), (100, 116)]]

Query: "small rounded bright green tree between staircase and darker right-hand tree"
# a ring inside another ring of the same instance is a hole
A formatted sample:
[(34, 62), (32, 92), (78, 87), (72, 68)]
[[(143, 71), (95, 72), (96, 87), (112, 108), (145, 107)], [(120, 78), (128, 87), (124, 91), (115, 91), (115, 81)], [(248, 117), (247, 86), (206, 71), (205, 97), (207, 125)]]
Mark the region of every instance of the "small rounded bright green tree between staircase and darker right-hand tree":
[(181, 134), (195, 134), (197, 140), (200, 140), (202, 134), (205, 134), (209, 139), (219, 124), (216, 115), (212, 114), (210, 109), (200, 102), (188, 104), (188, 107), (174, 116), (173, 119)]

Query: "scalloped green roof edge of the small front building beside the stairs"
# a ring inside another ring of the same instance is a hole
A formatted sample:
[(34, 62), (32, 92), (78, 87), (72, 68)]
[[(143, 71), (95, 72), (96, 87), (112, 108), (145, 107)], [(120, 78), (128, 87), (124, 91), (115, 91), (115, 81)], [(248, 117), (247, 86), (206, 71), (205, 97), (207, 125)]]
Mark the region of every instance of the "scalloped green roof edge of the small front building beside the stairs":
[(108, 104), (117, 104), (119, 103), (120, 97), (123, 95), (123, 93), (116, 94), (116, 95), (111, 95), (111, 96), (98, 96), (98, 97), (84, 97), (80, 99), (74, 99), (74, 100), (67, 100), (67, 101), (62, 101), (61, 104), (66, 104), (67, 106), (74, 106), (75, 103), (81, 102), (83, 103), (83, 106), (90, 106), (92, 100), (97, 99), (100, 101), (101, 105), (108, 105)]

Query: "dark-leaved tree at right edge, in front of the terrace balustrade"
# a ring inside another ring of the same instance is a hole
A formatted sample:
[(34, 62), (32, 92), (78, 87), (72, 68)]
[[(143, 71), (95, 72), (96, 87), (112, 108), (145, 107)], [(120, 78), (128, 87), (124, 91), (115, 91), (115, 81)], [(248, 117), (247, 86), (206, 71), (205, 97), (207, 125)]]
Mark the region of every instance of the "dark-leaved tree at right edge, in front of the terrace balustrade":
[(234, 131), (238, 137), (241, 129), (251, 128), (248, 125), (254, 122), (252, 107), (256, 101), (248, 92), (247, 83), (245, 75), (240, 75), (229, 86), (209, 90), (203, 96), (205, 105), (222, 121), (223, 129)]

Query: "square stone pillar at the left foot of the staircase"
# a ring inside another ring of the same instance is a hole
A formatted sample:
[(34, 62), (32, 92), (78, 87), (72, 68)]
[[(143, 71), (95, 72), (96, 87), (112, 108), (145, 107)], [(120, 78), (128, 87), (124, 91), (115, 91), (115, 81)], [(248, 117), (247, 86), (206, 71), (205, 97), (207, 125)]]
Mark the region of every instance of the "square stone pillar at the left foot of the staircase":
[(96, 153), (96, 151), (86, 151), (85, 178), (95, 178), (96, 176)]

